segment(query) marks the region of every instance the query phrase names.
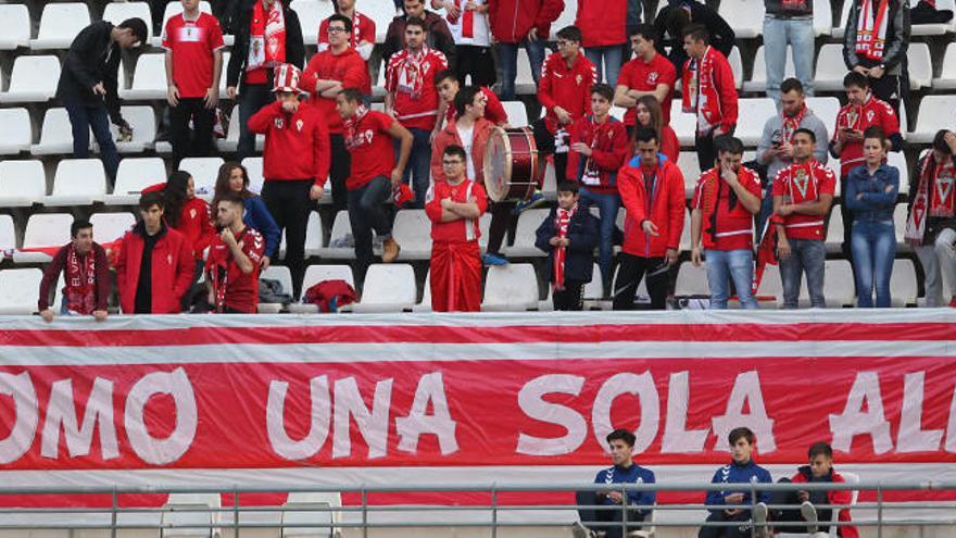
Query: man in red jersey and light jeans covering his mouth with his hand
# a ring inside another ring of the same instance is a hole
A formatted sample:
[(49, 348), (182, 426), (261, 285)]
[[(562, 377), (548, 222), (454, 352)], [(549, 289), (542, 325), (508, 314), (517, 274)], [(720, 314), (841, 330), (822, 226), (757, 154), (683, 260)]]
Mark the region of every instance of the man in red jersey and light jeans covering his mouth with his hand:
[(710, 308), (724, 310), (729, 281), (745, 309), (757, 309), (753, 295), (754, 215), (760, 211), (760, 179), (740, 165), (743, 142), (722, 136), (716, 140), (719, 161), (697, 180), (691, 202), (691, 261), (701, 266), (701, 247), (707, 260)]

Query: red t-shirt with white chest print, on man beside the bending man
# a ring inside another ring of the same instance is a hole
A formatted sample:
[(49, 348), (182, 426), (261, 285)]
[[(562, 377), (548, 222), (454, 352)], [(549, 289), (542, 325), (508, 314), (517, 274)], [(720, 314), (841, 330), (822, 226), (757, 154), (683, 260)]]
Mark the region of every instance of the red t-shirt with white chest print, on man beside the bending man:
[(209, 13), (199, 13), (196, 21), (179, 14), (166, 21), (163, 48), (173, 51), (173, 82), (179, 97), (205, 97), (213, 86), (213, 51), (222, 49), (219, 21)]

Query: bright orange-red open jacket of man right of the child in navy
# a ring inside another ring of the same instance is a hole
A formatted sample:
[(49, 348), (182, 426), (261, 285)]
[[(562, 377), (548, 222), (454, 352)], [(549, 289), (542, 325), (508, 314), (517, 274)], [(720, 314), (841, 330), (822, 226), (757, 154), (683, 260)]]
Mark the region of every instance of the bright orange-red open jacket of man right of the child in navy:
[[(649, 197), (644, 188), (641, 158), (636, 157), (618, 172), (617, 189), (627, 210), (621, 247), (625, 252), (642, 258), (663, 258), (667, 249), (680, 248), (687, 209), (683, 174), (676, 164), (658, 157), (657, 178)], [(647, 234), (641, 227), (645, 220), (657, 226), (657, 236)]]

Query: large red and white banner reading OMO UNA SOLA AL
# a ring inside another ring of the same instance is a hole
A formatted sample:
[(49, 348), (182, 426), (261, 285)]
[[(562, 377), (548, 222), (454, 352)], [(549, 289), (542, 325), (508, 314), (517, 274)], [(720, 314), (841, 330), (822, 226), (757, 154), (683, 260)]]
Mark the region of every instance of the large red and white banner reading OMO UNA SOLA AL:
[(658, 477), (704, 481), (738, 426), (780, 476), (826, 440), (864, 479), (940, 479), (954, 356), (952, 309), (13, 317), (0, 479), (590, 480), (628, 428)]

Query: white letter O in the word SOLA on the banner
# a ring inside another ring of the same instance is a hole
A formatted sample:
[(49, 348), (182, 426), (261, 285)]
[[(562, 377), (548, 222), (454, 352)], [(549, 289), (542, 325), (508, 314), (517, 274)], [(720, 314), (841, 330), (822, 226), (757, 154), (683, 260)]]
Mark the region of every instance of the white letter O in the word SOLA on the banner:
[(611, 406), (614, 400), (622, 395), (634, 395), (640, 402), (641, 423), (634, 430), (637, 440), (633, 447), (633, 452), (640, 454), (654, 442), (657, 429), (661, 427), (661, 399), (650, 372), (641, 375), (621, 373), (604, 381), (598, 396), (594, 397), (594, 406), (591, 408), (591, 427), (594, 428), (598, 445), (604, 447), (606, 452), (605, 438), (614, 430), (614, 425), (611, 424)]

